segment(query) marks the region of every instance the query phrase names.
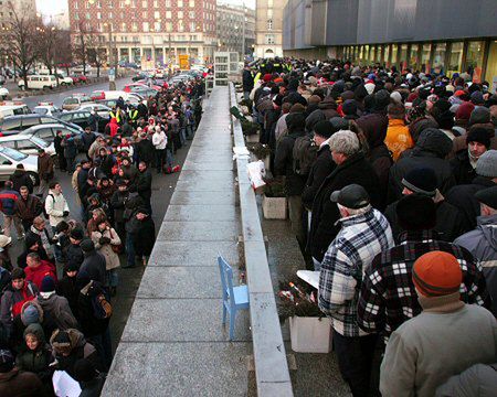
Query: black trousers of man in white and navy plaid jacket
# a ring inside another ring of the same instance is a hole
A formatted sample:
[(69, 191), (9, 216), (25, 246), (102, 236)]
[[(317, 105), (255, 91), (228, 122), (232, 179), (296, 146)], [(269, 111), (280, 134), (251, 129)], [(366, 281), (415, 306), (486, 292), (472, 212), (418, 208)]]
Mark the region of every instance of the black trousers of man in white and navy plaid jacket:
[(367, 397), (369, 395), (372, 357), (377, 339), (377, 334), (343, 336), (334, 331), (338, 367), (343, 380), (350, 386), (353, 397)]

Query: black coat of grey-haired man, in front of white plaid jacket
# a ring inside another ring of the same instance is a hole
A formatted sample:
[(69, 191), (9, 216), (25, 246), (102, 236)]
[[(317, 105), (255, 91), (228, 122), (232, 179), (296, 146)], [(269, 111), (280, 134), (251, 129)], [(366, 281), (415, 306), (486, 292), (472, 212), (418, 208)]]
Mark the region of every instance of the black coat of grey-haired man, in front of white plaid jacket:
[(331, 193), (351, 183), (366, 189), (373, 207), (378, 207), (381, 202), (378, 175), (362, 153), (338, 165), (322, 182), (313, 204), (307, 249), (318, 261), (322, 261), (326, 250), (340, 230), (339, 226), (335, 226), (340, 213), (337, 204), (330, 200)]

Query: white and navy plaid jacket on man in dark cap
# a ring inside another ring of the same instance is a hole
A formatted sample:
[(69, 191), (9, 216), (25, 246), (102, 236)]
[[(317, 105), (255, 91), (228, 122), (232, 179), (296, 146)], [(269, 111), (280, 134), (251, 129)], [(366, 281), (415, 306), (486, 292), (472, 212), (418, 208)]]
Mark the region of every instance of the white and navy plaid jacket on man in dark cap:
[(392, 229), (377, 210), (342, 218), (341, 229), (325, 254), (319, 275), (319, 308), (343, 336), (367, 333), (357, 324), (357, 301), (364, 270), (381, 251), (393, 247)]

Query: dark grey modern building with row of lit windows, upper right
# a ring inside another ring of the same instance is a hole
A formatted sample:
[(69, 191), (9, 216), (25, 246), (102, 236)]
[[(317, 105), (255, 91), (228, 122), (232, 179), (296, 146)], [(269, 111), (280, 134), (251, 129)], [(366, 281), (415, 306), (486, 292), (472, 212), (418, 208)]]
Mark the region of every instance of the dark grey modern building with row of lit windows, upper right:
[(288, 0), (287, 55), (497, 76), (495, 0)]

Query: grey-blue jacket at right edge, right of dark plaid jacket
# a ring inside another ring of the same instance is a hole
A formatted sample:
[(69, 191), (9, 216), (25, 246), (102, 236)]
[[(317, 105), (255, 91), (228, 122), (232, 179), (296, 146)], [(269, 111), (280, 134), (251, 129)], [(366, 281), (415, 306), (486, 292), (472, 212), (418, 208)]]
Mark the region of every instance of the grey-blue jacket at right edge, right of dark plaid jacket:
[(456, 238), (454, 244), (479, 260), (491, 297), (491, 311), (497, 316), (497, 214), (478, 216), (476, 229)]

